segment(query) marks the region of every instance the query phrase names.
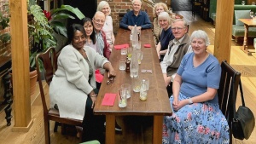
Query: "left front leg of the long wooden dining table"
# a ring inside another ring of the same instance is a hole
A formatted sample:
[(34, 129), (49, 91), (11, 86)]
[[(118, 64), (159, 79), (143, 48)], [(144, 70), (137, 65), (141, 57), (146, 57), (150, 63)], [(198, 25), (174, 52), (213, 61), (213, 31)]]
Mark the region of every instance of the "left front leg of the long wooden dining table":
[(115, 135), (115, 116), (106, 115), (106, 144), (114, 144)]

